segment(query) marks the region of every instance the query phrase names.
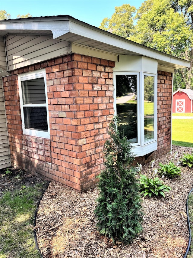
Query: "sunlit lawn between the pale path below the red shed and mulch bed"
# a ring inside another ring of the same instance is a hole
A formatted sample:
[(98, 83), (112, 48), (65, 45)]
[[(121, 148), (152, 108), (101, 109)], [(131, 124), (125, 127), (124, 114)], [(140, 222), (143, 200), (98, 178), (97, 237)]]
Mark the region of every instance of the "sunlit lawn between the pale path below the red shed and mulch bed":
[(193, 146), (193, 119), (172, 119), (172, 144)]

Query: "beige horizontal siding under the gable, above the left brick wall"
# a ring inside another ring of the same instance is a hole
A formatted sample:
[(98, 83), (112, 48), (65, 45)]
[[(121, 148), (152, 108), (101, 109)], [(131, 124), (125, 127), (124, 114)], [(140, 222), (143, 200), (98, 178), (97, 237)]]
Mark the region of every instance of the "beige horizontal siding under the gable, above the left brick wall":
[(9, 35), (5, 44), (9, 71), (70, 53), (69, 42), (52, 36)]

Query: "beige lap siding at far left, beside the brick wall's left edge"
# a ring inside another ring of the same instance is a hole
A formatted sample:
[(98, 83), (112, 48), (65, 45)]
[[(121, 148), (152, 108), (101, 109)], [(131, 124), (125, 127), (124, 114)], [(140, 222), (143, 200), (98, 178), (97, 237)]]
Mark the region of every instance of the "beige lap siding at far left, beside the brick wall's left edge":
[(11, 166), (2, 78), (0, 77), (0, 169)]

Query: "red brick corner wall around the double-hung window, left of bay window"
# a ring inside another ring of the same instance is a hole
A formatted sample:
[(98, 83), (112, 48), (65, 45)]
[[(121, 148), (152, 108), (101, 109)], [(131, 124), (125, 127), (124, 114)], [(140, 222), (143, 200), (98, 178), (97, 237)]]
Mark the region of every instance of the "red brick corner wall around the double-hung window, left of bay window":
[[(71, 54), (4, 77), (11, 164), (77, 190), (96, 184), (113, 109), (115, 63)], [(50, 140), (22, 133), (17, 74), (46, 68)]]

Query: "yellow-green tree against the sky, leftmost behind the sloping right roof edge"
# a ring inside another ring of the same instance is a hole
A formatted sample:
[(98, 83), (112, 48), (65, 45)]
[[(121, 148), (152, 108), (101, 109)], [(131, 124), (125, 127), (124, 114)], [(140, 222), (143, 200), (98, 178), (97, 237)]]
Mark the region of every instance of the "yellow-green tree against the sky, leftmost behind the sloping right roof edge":
[(104, 18), (100, 27), (123, 38), (129, 37), (134, 29), (133, 16), (136, 8), (129, 4), (115, 7), (115, 13), (111, 18)]

